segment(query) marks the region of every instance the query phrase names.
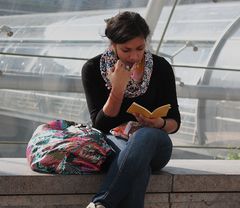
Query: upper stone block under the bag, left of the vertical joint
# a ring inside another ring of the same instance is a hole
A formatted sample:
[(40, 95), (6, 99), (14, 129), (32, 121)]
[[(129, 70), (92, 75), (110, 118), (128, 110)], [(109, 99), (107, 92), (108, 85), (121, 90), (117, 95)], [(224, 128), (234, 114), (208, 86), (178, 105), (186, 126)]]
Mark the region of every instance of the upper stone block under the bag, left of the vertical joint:
[[(0, 195), (96, 193), (104, 174), (42, 174), (30, 169), (25, 158), (0, 158)], [(170, 192), (172, 176), (165, 172), (150, 177), (147, 192)]]

